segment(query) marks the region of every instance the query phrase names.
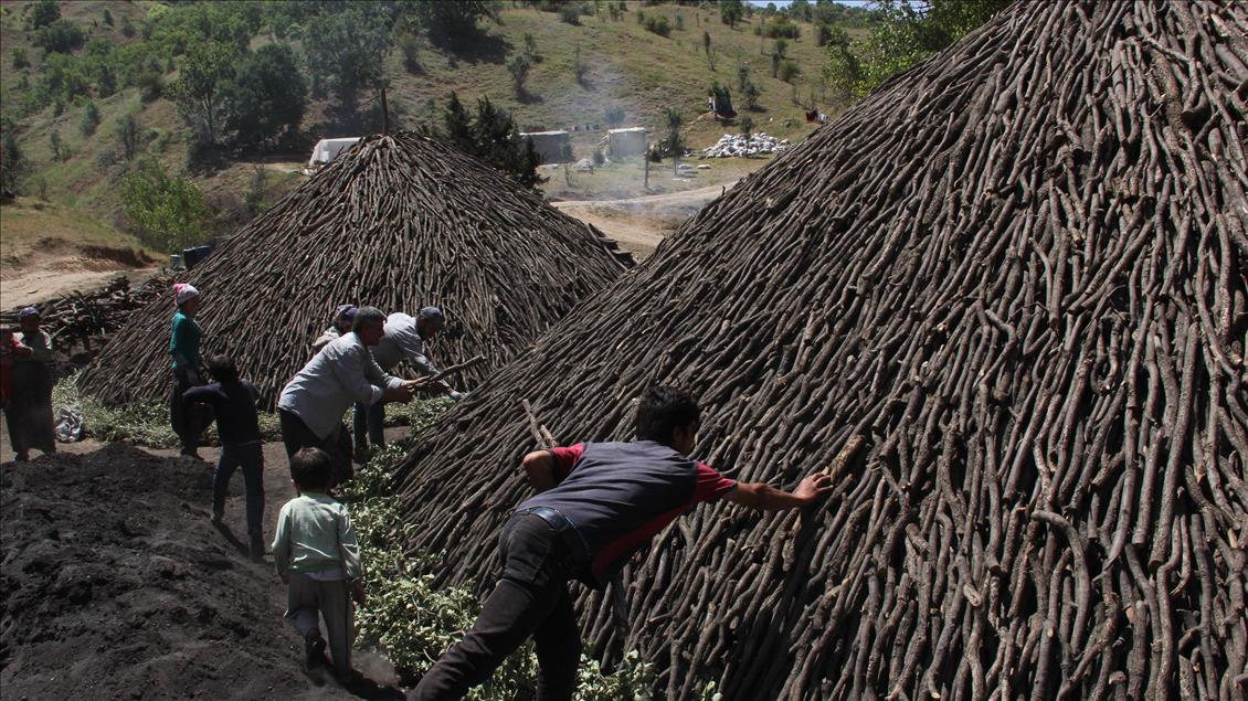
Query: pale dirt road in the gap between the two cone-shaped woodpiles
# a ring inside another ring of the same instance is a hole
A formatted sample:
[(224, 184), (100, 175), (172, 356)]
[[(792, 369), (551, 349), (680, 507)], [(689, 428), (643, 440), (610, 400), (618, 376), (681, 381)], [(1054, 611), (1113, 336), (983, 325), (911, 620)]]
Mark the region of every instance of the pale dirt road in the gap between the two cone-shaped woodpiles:
[(736, 181), (668, 195), (624, 200), (568, 200), (552, 205), (565, 215), (600, 228), (638, 258), (645, 258), (654, 253), (665, 236), (675, 232), (685, 220), (734, 185)]

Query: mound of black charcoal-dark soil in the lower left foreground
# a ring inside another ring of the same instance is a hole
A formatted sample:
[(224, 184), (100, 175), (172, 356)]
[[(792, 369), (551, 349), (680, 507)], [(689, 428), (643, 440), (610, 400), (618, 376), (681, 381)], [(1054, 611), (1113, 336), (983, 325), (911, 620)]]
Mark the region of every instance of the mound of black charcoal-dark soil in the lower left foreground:
[[(11, 459), (6, 434), (0, 452)], [(2, 696), (402, 699), (376, 652), (356, 650), (349, 687), (303, 669), (271, 555), (246, 555), (242, 475), (218, 530), (220, 453), (201, 454), (86, 440), (0, 464)], [(265, 447), (265, 491), (267, 543), (293, 496), (278, 443)]]

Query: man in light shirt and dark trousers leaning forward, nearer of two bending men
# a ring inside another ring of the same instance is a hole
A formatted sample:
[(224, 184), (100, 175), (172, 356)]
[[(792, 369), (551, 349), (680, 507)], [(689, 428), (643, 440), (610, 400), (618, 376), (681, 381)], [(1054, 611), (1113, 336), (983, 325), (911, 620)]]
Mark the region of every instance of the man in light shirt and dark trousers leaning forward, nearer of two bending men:
[(411, 402), (424, 379), (403, 382), (382, 370), (368, 349), (386, 333), (386, 314), (376, 307), (356, 312), (352, 332), (331, 342), (282, 389), (277, 413), (286, 454), (319, 448), (334, 460), (336, 481), (351, 475), (351, 442), (343, 440), (342, 414), (353, 404)]

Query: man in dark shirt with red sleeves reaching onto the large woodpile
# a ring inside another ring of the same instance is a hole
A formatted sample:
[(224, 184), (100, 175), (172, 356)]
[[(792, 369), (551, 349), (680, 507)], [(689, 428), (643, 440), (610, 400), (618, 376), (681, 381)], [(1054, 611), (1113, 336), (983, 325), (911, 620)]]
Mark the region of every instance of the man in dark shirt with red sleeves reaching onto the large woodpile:
[(461, 699), (489, 679), (530, 635), (538, 656), (538, 700), (572, 699), (580, 631), (567, 583), (602, 587), (629, 556), (701, 501), (724, 498), (760, 510), (796, 509), (830, 489), (807, 476), (792, 493), (739, 483), (689, 458), (700, 412), (670, 387), (645, 392), (633, 443), (578, 443), (524, 457), (538, 494), (503, 526), (503, 579), (477, 622), (412, 692), (414, 700)]

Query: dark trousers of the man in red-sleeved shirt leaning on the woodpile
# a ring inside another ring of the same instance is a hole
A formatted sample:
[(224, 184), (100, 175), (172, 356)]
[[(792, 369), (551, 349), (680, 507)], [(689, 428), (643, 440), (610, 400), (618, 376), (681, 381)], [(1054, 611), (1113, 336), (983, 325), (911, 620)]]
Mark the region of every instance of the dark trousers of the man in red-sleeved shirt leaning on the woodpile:
[(462, 699), (484, 682), (530, 635), (538, 656), (538, 701), (572, 699), (580, 664), (580, 629), (568, 594), (574, 566), (540, 518), (515, 515), (499, 538), (503, 579), (477, 622), (408, 695), (409, 701)]

